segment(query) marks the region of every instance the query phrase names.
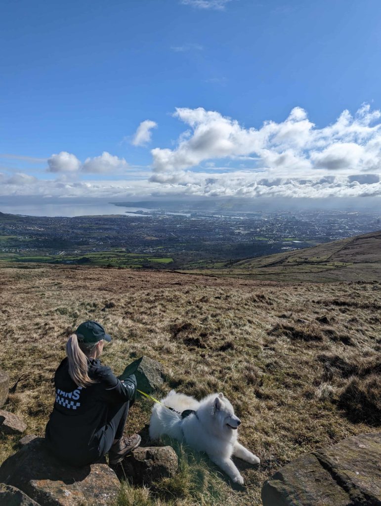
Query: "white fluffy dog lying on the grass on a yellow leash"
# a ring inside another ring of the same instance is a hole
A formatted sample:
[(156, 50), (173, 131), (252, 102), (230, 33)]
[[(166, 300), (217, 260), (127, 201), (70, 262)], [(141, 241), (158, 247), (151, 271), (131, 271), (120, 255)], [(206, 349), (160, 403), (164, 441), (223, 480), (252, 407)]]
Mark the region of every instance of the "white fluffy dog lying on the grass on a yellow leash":
[(179, 412), (193, 410), (182, 418), (178, 413), (155, 403), (149, 426), (152, 440), (166, 434), (186, 441), (189, 446), (208, 454), (234, 482), (243, 485), (243, 478), (231, 459), (232, 455), (259, 464), (260, 459), (238, 443), (237, 428), (241, 420), (223, 394), (211, 394), (200, 402), (172, 390), (161, 402)]

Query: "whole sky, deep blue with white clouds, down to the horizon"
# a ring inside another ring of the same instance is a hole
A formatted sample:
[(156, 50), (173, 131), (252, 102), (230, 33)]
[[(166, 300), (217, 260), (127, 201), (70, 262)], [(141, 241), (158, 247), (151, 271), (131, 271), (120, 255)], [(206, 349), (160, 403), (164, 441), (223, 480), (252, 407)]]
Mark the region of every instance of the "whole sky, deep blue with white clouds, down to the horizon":
[(0, 195), (381, 193), (378, 0), (3, 0), (0, 27)]

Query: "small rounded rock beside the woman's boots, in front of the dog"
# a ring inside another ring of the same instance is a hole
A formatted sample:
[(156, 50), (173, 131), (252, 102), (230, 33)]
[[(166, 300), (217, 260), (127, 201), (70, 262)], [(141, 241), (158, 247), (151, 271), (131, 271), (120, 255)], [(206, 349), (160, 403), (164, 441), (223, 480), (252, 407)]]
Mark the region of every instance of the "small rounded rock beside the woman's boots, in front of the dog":
[(161, 478), (171, 478), (178, 471), (179, 461), (171, 446), (139, 447), (122, 461), (126, 477), (134, 485), (150, 485)]

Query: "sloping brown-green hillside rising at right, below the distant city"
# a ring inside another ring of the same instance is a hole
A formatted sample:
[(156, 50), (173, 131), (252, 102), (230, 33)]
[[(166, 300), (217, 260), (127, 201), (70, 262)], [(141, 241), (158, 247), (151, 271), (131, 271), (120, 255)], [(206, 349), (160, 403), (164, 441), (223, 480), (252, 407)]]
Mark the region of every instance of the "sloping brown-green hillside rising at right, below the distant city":
[(381, 231), (187, 272), (274, 281), (381, 281)]

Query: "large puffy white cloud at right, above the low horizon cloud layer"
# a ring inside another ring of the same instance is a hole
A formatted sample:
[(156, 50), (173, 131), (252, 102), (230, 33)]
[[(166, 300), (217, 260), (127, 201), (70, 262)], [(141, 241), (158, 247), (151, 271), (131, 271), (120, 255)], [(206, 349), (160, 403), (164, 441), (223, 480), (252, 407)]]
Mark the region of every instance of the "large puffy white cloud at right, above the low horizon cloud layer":
[(305, 110), (295, 107), (280, 123), (244, 128), (217, 111), (178, 108), (175, 117), (191, 132), (180, 136), (175, 149), (155, 148), (154, 172), (176, 172), (218, 158), (257, 157), (257, 170), (278, 175), (329, 171), (380, 171), (379, 111), (363, 106), (354, 117), (344, 111), (337, 121), (317, 129)]

